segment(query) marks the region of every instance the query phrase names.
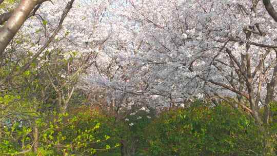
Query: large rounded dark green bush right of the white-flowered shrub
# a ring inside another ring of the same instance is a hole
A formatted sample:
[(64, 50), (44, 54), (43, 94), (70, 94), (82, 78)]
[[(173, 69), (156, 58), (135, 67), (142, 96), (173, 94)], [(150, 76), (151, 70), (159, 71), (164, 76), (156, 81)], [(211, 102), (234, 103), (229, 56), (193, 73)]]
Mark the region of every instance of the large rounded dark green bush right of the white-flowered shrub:
[(259, 155), (261, 137), (250, 116), (200, 102), (160, 114), (146, 130), (150, 155)]

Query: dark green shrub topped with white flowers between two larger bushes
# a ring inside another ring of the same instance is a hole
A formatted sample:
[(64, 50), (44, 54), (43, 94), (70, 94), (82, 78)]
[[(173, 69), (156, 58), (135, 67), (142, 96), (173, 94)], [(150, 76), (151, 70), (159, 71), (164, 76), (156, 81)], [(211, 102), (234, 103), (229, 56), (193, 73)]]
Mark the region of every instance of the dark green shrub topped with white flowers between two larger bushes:
[(126, 114), (123, 113), (122, 116), (124, 116), (123, 119), (114, 120), (114, 118), (111, 118), (111, 122), (108, 122), (114, 132), (111, 135), (111, 140), (119, 143), (120, 148), (100, 152), (97, 155), (118, 156), (122, 155), (122, 153), (125, 155), (147, 154), (144, 151), (148, 146), (144, 131), (155, 118), (155, 110), (146, 107), (143, 110), (141, 107), (132, 106), (131, 110), (128, 110)]

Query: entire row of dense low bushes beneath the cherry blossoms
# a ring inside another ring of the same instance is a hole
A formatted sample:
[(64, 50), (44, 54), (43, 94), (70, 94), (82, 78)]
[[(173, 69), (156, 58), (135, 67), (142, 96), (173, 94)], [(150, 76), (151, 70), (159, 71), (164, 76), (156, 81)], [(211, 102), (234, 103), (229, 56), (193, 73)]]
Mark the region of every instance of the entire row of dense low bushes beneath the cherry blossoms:
[[(45, 118), (46, 119), (46, 118)], [(261, 155), (262, 135), (250, 116), (224, 103), (195, 102), (188, 108), (132, 108), (124, 118), (86, 106), (37, 120), (42, 155)], [(8, 135), (19, 137), (12, 141)], [(31, 128), (6, 128), (0, 149), (16, 153), (32, 145)], [(4, 135), (2, 135), (3, 137)], [(24, 155), (37, 155), (26, 152)]]

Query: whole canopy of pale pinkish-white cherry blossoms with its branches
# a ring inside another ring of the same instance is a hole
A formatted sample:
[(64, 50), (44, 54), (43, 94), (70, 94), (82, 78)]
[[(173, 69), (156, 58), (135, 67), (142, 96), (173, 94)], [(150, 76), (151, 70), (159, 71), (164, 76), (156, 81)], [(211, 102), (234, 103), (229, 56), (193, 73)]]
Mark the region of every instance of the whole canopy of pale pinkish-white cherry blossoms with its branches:
[[(73, 71), (87, 69), (86, 63), (93, 65), (78, 87), (87, 92), (104, 90), (107, 104), (117, 115), (126, 114), (134, 104), (185, 106), (191, 99), (206, 99), (216, 105), (216, 100), (224, 100), (253, 117), (264, 134), (264, 155), (273, 155), (275, 2), (76, 1), (71, 12), (74, 1), (42, 2), (21, 1), (17, 9), (0, 16), (0, 23), (7, 21), (0, 29), (0, 54), (7, 56), (5, 48), (32, 51), (32, 58), (0, 80), (0, 86), (35, 60), (43, 65), (49, 51), (62, 49), (63, 58), (74, 51), (84, 64), (72, 63)], [(25, 42), (13, 44), (12, 38)], [(93, 57), (84, 60), (82, 56)], [(65, 88), (67, 97), (62, 95), (57, 88), (63, 86), (58, 84), (64, 80), (62, 75), (70, 77), (66, 73), (50, 67), (47, 72), (64, 106), (77, 83), (69, 80), (73, 85)]]

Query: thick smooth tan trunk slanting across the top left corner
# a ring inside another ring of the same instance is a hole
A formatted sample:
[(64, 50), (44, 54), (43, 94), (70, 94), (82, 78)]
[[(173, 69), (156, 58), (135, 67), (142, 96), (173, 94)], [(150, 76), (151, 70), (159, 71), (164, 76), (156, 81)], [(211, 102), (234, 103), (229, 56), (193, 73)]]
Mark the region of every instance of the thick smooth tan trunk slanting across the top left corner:
[(0, 57), (36, 4), (35, 0), (22, 0), (7, 23), (0, 29)]

